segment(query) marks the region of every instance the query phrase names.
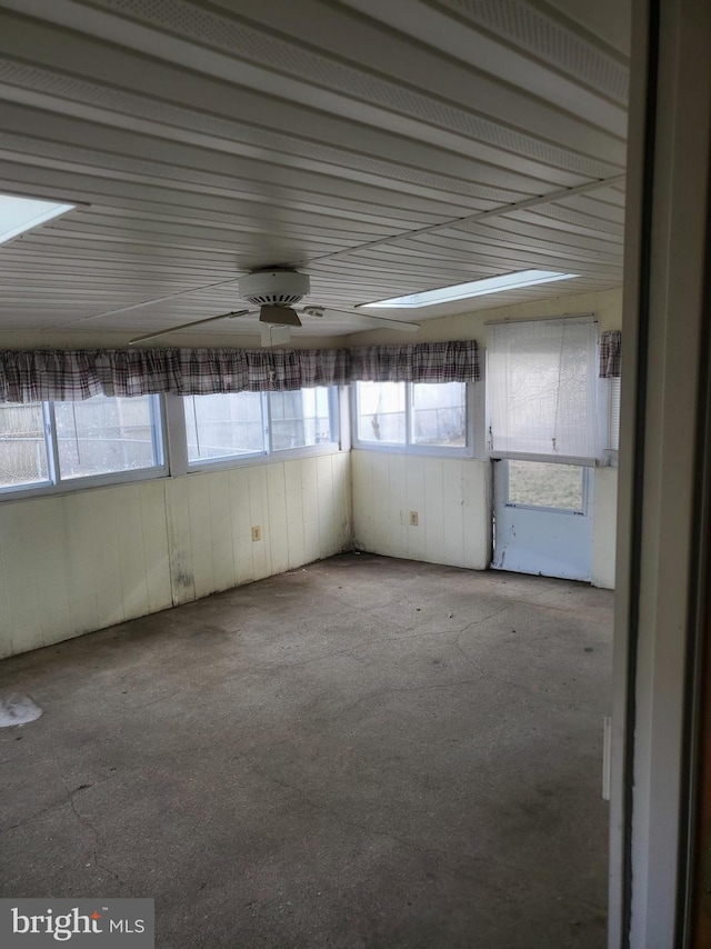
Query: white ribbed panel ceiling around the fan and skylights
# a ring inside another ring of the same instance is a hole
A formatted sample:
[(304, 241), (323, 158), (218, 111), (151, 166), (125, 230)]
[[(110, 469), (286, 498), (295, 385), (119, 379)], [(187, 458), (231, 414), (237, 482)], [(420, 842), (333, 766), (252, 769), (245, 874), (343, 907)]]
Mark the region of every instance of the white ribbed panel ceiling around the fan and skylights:
[(417, 321), (619, 286), (628, 33), (618, 0), (0, 0), (0, 192), (78, 204), (0, 246), (0, 331), (128, 340), (277, 266), (347, 309), (579, 274)]

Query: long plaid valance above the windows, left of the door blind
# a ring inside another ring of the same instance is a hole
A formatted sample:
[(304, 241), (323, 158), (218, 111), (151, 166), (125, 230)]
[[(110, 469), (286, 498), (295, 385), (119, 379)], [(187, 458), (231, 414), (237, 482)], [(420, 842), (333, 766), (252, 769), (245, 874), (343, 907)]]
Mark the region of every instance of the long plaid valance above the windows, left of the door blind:
[(356, 380), (469, 382), (477, 343), (362, 349), (131, 349), (0, 351), (0, 402), (91, 396), (286, 391)]

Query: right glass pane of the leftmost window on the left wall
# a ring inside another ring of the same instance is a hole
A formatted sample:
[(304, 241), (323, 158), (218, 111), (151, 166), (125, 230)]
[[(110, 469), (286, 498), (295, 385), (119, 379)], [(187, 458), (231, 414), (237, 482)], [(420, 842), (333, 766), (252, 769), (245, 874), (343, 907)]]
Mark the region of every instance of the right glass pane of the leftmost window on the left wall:
[(59, 473), (87, 478), (153, 468), (156, 431), (151, 397), (94, 396), (83, 402), (54, 402)]

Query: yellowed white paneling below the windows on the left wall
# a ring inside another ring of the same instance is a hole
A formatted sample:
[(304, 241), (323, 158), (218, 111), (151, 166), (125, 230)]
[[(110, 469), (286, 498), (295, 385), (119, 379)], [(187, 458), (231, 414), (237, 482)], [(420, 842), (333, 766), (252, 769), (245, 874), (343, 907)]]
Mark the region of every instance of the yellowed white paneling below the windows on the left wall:
[(0, 505), (0, 658), (338, 553), (349, 481), (342, 453)]

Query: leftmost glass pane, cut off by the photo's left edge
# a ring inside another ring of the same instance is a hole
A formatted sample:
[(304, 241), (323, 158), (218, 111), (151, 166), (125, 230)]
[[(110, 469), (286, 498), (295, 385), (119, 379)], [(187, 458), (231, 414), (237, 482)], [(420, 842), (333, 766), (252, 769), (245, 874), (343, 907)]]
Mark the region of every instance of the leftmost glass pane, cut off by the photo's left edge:
[(0, 488), (48, 479), (41, 404), (0, 406)]

